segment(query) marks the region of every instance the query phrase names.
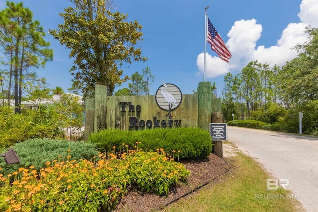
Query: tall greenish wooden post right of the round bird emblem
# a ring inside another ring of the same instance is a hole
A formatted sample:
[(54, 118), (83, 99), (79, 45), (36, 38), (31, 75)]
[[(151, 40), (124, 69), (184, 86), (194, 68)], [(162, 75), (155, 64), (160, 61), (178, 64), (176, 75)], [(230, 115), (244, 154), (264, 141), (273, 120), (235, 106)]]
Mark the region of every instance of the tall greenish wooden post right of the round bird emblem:
[(211, 123), (212, 95), (211, 82), (199, 82), (198, 88), (198, 127), (209, 131)]

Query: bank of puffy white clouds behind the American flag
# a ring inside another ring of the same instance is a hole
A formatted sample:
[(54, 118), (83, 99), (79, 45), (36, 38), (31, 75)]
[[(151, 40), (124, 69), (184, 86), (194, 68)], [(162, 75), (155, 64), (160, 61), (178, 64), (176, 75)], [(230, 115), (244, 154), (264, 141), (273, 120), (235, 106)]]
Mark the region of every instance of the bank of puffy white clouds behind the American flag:
[[(298, 16), (301, 22), (288, 24), (277, 44), (268, 48), (256, 47), (256, 42), (262, 33), (262, 26), (256, 24), (255, 19), (236, 21), (228, 33), (229, 40), (226, 43), (232, 54), (230, 63), (227, 64), (220, 58), (207, 54), (206, 77), (214, 78), (230, 71), (241, 71), (247, 63), (255, 60), (267, 63), (271, 67), (275, 64), (282, 66), (292, 60), (297, 56), (296, 50), (292, 48), (304, 43), (307, 39), (304, 33), (305, 27), (308, 24), (318, 27), (318, 0), (303, 0)], [(223, 40), (226, 39), (223, 38)], [(197, 66), (200, 70), (198, 74), (203, 73), (203, 57), (204, 53), (200, 53), (197, 57)]]

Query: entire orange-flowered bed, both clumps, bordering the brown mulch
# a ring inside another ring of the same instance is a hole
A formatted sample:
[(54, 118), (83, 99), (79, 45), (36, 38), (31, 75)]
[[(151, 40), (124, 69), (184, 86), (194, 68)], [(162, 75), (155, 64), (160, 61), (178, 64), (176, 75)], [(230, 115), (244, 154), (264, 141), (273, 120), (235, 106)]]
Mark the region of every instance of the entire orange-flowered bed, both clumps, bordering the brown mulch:
[[(72, 154), (69, 152), (69, 154)], [(100, 160), (46, 162), (37, 171), (20, 168), (7, 178), (0, 174), (0, 208), (5, 211), (102, 212), (112, 211), (127, 185), (144, 192), (167, 194), (171, 185), (190, 174), (164, 154), (154, 152), (100, 154)], [(10, 184), (10, 177), (14, 182)]]

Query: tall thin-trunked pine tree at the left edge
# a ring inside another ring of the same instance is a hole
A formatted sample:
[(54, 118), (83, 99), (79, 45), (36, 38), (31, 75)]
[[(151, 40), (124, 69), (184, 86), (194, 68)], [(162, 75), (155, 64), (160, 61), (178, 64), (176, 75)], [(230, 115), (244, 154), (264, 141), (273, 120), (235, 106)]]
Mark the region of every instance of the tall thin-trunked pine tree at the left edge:
[(23, 83), (36, 78), (35, 72), (30, 72), (32, 68), (44, 67), (47, 61), (53, 60), (53, 51), (44, 40), (40, 22), (32, 20), (32, 12), (22, 2), (7, 1), (6, 6), (0, 11), (0, 48), (8, 59), (5, 63), (9, 67), (8, 99), (13, 86), (15, 112), (20, 113)]

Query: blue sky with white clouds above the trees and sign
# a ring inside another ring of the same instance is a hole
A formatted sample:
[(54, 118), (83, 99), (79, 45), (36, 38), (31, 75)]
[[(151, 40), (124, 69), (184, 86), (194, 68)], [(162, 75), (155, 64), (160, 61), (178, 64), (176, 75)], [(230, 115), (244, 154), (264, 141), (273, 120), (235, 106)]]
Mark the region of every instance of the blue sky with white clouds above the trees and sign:
[[(13, 0), (21, 2), (21, 0)], [(0, 0), (0, 9), (5, 7)], [(23, 0), (39, 20), (45, 32), (56, 29), (63, 20), (59, 13), (71, 4), (67, 0)], [(291, 50), (306, 41), (304, 28), (318, 27), (318, 0), (115, 0), (116, 9), (128, 14), (128, 21), (137, 20), (142, 26), (142, 48), (145, 63), (133, 62), (124, 75), (149, 67), (155, 76), (150, 94), (155, 95), (161, 82), (178, 86), (183, 94), (192, 94), (204, 81), (204, 8), (210, 21), (227, 44), (232, 58), (226, 63), (207, 45), (205, 81), (216, 82), (221, 96), (223, 78), (231, 72), (238, 74), (249, 62), (258, 60), (270, 66), (282, 66), (297, 56)], [(73, 60), (69, 50), (47, 33), (54, 60), (37, 69), (45, 77), (49, 88), (62, 87), (67, 92), (72, 76)], [(128, 87), (124, 83), (122, 89)]]

